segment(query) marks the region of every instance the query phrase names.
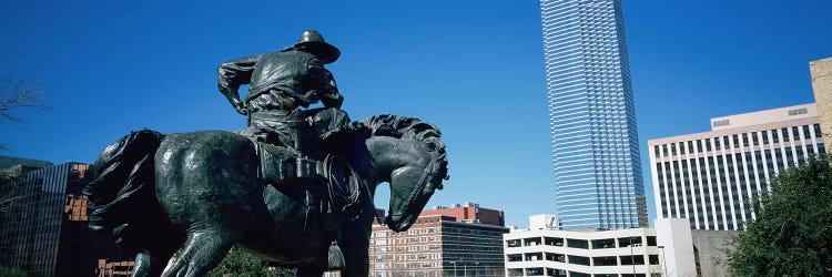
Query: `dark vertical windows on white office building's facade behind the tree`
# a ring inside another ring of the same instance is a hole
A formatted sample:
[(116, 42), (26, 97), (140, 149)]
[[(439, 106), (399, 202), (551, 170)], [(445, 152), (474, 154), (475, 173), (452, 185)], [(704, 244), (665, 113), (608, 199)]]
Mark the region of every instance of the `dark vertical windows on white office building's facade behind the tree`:
[[(803, 146), (809, 153), (824, 152), (822, 143)], [(804, 156), (802, 147), (784, 147), (657, 163), (661, 216), (690, 218), (696, 228), (740, 228), (754, 217), (748, 205), (750, 195), (765, 188), (770, 176), (802, 163)], [(724, 220), (723, 209), (729, 212)]]

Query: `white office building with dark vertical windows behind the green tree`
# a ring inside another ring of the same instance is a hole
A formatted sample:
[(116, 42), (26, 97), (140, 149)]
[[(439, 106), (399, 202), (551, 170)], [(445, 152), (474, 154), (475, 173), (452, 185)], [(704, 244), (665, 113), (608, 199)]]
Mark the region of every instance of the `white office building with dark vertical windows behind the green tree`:
[(711, 119), (711, 132), (648, 141), (659, 218), (739, 230), (769, 179), (824, 153), (814, 103)]

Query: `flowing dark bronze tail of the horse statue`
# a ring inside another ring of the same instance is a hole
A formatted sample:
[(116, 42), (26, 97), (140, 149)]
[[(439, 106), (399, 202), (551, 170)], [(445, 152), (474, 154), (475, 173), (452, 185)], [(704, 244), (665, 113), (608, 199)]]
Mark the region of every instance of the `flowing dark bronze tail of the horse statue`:
[[(89, 227), (112, 233), (116, 244), (135, 242), (148, 228), (150, 213), (161, 213), (155, 201), (153, 157), (164, 135), (142, 130), (106, 146), (94, 163), (94, 179), (83, 189), (90, 201)], [(131, 248), (131, 247), (129, 247)]]

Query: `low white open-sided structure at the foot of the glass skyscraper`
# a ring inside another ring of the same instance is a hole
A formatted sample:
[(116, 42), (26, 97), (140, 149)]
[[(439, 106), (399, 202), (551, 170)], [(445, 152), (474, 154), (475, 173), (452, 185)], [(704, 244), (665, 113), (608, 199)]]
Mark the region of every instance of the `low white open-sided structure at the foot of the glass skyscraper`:
[(615, 230), (561, 230), (551, 222), (532, 216), (531, 229), (503, 235), (506, 276), (697, 276), (688, 220)]

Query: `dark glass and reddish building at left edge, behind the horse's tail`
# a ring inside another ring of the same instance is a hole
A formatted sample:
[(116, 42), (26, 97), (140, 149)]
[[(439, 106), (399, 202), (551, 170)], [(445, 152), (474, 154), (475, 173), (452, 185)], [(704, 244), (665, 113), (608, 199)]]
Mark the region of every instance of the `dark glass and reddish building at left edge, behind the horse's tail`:
[(30, 276), (129, 276), (131, 255), (115, 247), (108, 234), (87, 227), (90, 165), (50, 165), (0, 156), (11, 176), (0, 181), (0, 267), (20, 268)]

